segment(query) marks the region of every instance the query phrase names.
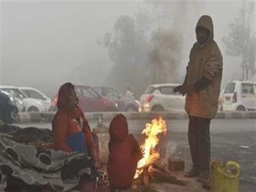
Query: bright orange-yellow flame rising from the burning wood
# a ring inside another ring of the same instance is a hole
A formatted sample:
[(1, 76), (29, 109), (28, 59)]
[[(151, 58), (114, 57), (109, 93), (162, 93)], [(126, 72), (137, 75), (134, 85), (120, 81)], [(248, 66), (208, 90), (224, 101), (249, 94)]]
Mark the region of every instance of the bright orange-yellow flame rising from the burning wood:
[(161, 116), (154, 118), (151, 120), (151, 123), (146, 124), (146, 127), (143, 129), (141, 134), (145, 134), (147, 138), (145, 139), (145, 142), (140, 146), (141, 150), (144, 151), (144, 156), (138, 162), (134, 178), (138, 178), (139, 175), (143, 172), (143, 169), (140, 169), (141, 167), (160, 156), (159, 152), (157, 152), (155, 148), (159, 143), (159, 138), (157, 138), (157, 136), (162, 132), (165, 136), (166, 131), (166, 122)]

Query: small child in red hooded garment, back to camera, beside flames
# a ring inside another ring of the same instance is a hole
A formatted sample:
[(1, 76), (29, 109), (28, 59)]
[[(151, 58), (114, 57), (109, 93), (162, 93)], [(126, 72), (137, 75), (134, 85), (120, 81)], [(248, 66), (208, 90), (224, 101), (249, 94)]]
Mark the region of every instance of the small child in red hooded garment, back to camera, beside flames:
[(132, 134), (124, 115), (113, 118), (109, 125), (108, 179), (117, 189), (129, 188), (140, 159), (140, 146)]

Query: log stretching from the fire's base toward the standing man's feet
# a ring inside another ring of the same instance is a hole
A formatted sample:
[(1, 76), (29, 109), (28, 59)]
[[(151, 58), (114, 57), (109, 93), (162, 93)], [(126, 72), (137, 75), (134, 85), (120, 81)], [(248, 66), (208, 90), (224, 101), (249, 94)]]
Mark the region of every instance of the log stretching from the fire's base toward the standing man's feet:
[(175, 177), (172, 177), (166, 173), (161, 172), (160, 170), (157, 170), (156, 168), (150, 168), (149, 170), (150, 176), (157, 179), (159, 182), (168, 182), (171, 184), (177, 184), (179, 186), (186, 186), (188, 182), (186, 180), (180, 180)]

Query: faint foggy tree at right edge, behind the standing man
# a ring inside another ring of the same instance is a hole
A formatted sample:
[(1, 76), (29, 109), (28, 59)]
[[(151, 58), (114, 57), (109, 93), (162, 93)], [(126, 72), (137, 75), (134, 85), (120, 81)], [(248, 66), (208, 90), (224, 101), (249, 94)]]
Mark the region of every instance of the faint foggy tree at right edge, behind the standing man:
[(223, 42), (227, 45), (227, 54), (231, 56), (241, 56), (243, 58), (241, 63), (243, 79), (248, 79), (249, 73), (251, 76), (256, 73), (255, 38), (253, 37), (255, 34), (252, 35), (250, 26), (246, 25), (246, 20), (250, 18), (252, 11), (252, 9), (249, 10), (249, 17), (247, 17), (245, 8), (241, 9), (239, 17), (229, 25), (230, 31), (228, 36), (223, 38)]

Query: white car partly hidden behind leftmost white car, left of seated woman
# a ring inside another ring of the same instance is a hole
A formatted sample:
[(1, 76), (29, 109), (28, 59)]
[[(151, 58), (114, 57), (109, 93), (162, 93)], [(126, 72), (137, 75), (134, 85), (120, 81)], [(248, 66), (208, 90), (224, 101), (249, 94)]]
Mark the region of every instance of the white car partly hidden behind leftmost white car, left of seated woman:
[(23, 93), (25, 93), (28, 98), (35, 99), (38, 102), (41, 102), (44, 107), (44, 111), (48, 111), (51, 107), (51, 99), (47, 97), (44, 93), (40, 92), (36, 88), (32, 87), (19, 87)]

